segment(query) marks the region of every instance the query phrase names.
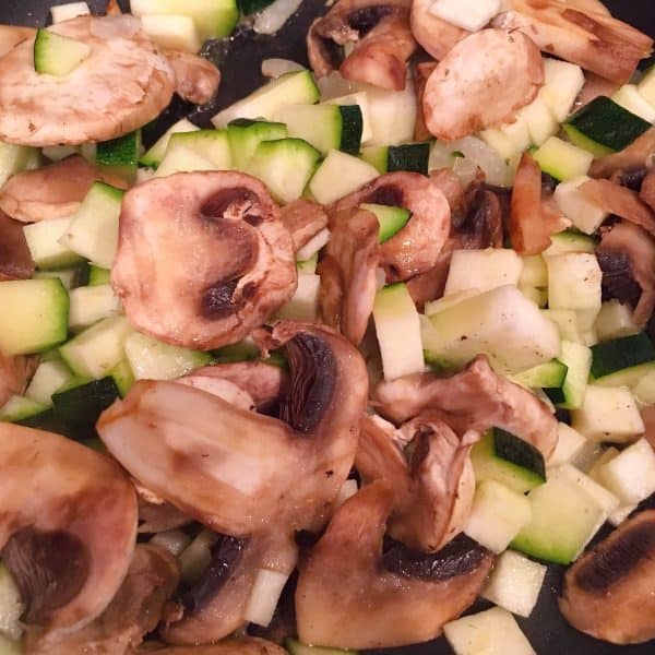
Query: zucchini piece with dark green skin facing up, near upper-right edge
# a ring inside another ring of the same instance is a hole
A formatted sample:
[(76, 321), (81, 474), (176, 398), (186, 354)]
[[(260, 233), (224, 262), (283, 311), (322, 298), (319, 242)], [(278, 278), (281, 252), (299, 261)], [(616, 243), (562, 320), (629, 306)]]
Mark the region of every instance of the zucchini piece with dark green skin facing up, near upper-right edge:
[(616, 97), (598, 96), (573, 114), (562, 127), (573, 144), (602, 157), (623, 150), (651, 126), (624, 108)]

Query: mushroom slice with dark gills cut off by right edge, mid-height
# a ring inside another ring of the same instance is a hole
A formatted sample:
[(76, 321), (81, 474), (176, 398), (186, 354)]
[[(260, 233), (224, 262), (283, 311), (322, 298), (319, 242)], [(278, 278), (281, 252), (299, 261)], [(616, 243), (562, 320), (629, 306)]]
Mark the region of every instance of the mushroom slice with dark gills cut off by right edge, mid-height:
[(655, 310), (655, 240), (641, 227), (620, 222), (600, 228), (596, 259), (603, 271), (603, 299), (631, 305), (645, 325)]

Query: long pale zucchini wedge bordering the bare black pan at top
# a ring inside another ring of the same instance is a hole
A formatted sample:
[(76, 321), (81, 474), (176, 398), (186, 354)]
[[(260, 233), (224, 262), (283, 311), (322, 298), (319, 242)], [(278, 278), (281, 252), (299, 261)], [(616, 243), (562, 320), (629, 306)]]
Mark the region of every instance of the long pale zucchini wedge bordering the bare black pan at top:
[(285, 105), (313, 105), (319, 96), (309, 71), (286, 73), (223, 109), (212, 122), (216, 128), (225, 128), (235, 118), (277, 120)]

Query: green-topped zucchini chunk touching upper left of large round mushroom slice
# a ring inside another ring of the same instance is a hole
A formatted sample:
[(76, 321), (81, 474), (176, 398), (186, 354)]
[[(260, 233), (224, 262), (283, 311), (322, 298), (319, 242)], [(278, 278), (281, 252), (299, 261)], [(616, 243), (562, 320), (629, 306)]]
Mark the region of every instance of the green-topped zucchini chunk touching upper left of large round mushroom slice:
[(123, 192), (94, 182), (61, 237), (61, 243), (98, 266), (110, 269), (118, 243), (118, 216)]

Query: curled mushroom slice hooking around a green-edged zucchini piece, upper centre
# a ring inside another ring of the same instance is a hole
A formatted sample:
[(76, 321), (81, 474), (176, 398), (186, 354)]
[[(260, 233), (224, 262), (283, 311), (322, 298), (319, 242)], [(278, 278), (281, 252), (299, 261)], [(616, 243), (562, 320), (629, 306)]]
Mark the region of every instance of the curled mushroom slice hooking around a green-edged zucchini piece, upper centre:
[(334, 205), (334, 215), (367, 202), (412, 212), (405, 227), (380, 246), (386, 282), (409, 279), (437, 263), (448, 239), (451, 214), (443, 192), (433, 180), (418, 172), (381, 175), (340, 200)]

